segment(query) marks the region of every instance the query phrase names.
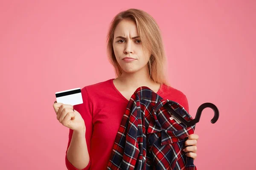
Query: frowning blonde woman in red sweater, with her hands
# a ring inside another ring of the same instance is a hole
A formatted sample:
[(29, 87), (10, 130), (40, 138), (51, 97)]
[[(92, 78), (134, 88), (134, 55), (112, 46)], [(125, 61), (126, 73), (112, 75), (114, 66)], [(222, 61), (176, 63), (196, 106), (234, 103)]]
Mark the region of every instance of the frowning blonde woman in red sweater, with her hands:
[[(166, 81), (166, 56), (160, 29), (145, 11), (129, 9), (116, 15), (108, 33), (108, 56), (116, 79), (81, 89), (83, 104), (53, 105), (57, 119), (70, 128), (66, 151), (69, 170), (104, 170), (131, 95), (147, 86), (189, 112), (186, 96)], [(85, 137), (84, 137), (85, 136)], [(198, 135), (186, 140), (187, 156), (196, 158)]]

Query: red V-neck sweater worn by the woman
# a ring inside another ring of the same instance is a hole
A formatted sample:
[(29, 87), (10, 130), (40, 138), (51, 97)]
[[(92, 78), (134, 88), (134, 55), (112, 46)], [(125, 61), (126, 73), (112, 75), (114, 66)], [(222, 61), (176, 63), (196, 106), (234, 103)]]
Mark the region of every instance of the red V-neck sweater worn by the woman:
[[(129, 101), (116, 89), (113, 79), (85, 86), (81, 93), (83, 103), (74, 105), (74, 109), (81, 114), (86, 126), (85, 138), (90, 161), (84, 170), (105, 170)], [(161, 85), (157, 94), (163, 99), (179, 103), (189, 112), (187, 98), (181, 91)], [(73, 130), (70, 129), (67, 148), (72, 134)], [(67, 160), (67, 150), (66, 166), (68, 170), (78, 170)]]

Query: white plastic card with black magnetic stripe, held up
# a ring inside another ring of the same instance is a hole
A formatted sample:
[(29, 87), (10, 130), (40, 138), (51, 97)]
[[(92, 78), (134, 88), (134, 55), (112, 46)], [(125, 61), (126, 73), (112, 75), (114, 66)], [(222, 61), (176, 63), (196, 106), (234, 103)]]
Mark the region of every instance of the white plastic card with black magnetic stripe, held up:
[(81, 88), (59, 91), (55, 93), (56, 101), (67, 105), (79, 105), (83, 103)]

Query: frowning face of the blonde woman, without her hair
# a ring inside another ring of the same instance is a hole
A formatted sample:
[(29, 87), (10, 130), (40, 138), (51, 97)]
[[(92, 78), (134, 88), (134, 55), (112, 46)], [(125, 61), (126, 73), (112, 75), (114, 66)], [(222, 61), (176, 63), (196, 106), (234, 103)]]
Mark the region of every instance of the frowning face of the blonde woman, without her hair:
[(116, 26), (113, 50), (123, 71), (134, 73), (142, 68), (147, 69), (150, 54), (147, 51), (143, 53), (142, 42), (133, 21), (122, 20)]

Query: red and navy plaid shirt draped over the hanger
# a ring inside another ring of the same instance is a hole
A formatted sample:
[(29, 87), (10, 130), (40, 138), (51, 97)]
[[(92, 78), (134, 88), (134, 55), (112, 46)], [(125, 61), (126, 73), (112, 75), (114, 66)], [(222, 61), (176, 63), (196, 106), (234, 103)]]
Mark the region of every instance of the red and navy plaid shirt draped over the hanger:
[(116, 135), (108, 170), (196, 170), (193, 159), (182, 150), (195, 125), (177, 123), (165, 104), (192, 120), (178, 103), (162, 99), (147, 87), (138, 88)]

